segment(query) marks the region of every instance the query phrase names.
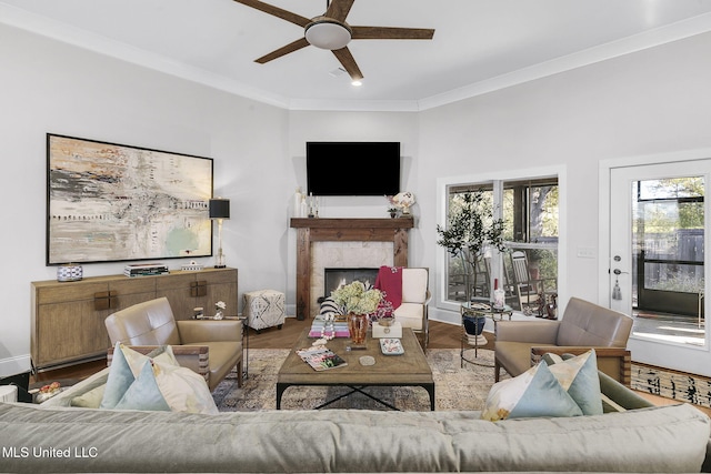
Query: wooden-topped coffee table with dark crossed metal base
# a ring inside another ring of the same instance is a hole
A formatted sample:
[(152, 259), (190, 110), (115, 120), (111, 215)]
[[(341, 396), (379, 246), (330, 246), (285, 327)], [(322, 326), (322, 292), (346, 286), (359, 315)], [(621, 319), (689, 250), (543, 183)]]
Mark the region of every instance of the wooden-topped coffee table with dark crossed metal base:
[[(401, 355), (383, 355), (380, 351), (380, 341), (368, 336), (368, 349), (347, 351), (351, 340), (348, 337), (336, 337), (327, 346), (343, 357), (348, 365), (328, 371), (317, 372), (309, 364), (303, 362), (296, 353), (297, 349), (311, 346), (314, 341), (309, 337), (307, 329), (299, 341), (289, 353), (277, 376), (277, 410), (281, 409), (281, 396), (284, 391), (293, 385), (322, 385), (322, 386), (348, 386), (351, 389), (346, 395), (362, 393), (377, 402), (392, 410), (395, 406), (379, 400), (362, 389), (368, 386), (421, 386), (430, 395), (430, 410), (434, 410), (434, 379), (432, 370), (427, 362), (424, 352), (420, 346), (414, 333), (409, 327), (402, 330), (402, 346), (404, 353)], [(371, 355), (375, 359), (374, 365), (361, 365), (360, 357)], [(336, 400), (328, 401), (317, 409), (321, 409)]]

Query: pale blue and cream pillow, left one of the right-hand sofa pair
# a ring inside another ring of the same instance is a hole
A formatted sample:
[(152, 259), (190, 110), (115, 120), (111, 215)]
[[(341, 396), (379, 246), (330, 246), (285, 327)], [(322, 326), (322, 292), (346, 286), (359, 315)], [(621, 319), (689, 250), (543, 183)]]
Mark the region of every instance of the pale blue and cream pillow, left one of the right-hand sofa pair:
[(483, 420), (492, 422), (531, 416), (579, 416), (582, 411), (544, 362), (519, 376), (493, 384)]

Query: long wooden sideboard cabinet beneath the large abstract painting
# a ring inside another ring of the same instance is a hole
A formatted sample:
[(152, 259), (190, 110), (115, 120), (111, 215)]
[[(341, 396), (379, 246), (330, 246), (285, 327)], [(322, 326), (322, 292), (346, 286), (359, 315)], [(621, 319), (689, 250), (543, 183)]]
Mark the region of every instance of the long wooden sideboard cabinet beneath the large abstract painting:
[(213, 311), (218, 301), (237, 312), (237, 269), (204, 269), (153, 276), (32, 282), (32, 364), (44, 370), (106, 357), (111, 342), (103, 320), (156, 297), (168, 297), (176, 320), (192, 317), (196, 306)]

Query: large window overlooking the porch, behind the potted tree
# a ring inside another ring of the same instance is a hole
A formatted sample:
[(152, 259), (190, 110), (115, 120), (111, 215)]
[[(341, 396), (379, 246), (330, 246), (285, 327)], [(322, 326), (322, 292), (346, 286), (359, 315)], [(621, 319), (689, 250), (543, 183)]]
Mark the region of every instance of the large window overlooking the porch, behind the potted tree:
[(499, 284), (511, 307), (537, 312), (558, 292), (558, 177), (450, 184), (447, 213), (472, 191), (481, 191), (482, 205), (503, 220), (505, 251), (489, 249), (469, 275), (461, 259), (447, 254), (445, 300), (464, 301), (469, 285), (472, 300), (489, 301)]

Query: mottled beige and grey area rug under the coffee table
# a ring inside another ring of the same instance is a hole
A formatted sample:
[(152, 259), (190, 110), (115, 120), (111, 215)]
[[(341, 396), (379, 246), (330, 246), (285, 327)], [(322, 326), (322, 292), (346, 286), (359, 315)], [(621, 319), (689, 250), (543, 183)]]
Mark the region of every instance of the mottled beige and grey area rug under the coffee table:
[[(212, 396), (221, 412), (274, 410), (277, 372), (289, 354), (282, 349), (253, 349), (249, 351), (249, 374), (241, 387), (237, 374), (230, 374), (213, 391)], [(434, 379), (438, 411), (481, 410), (493, 384), (493, 351), (479, 350), (474, 365), (461, 367), (459, 350), (432, 349), (427, 353)], [(471, 359), (471, 355), (470, 355)], [(487, 366), (484, 366), (487, 365)], [(311, 410), (350, 390), (347, 387), (291, 386), (281, 399), (282, 410)], [(422, 387), (368, 387), (365, 391), (400, 410), (429, 411), (430, 400)], [(328, 406), (329, 409), (388, 410), (362, 394), (352, 394)]]

